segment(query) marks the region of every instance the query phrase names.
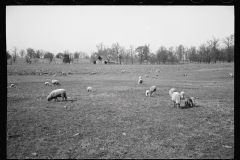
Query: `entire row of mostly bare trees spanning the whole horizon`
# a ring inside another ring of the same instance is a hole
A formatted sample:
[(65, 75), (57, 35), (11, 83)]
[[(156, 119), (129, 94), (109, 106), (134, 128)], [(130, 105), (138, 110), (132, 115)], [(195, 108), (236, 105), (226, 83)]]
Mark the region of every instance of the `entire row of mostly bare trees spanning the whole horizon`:
[[(222, 42), (223, 45), (220, 45)], [(102, 56), (109, 62), (116, 62), (117, 64), (165, 64), (165, 63), (179, 63), (179, 62), (232, 62), (234, 61), (234, 35), (227, 36), (222, 40), (213, 37), (206, 43), (201, 44), (198, 48), (191, 46), (190, 48), (182, 44), (176, 47), (165, 47), (161, 45), (159, 49), (153, 53), (150, 50), (150, 44), (145, 44), (134, 48), (130, 45), (129, 48), (121, 46), (119, 43), (113, 43), (110, 47), (103, 43), (96, 45), (97, 51), (92, 52), (90, 62)], [(18, 52), (16, 47), (13, 47), (12, 54), (7, 51), (7, 60), (15, 63), (17, 57), (25, 57), (26, 63), (36, 63), (39, 58), (46, 58), (51, 63), (54, 60), (54, 54), (44, 50), (34, 50), (27, 48)], [(71, 53), (65, 50), (63, 53), (59, 52), (55, 58), (62, 59), (63, 63), (78, 62), (79, 58), (89, 58), (88, 54), (82, 51), (75, 51)]]

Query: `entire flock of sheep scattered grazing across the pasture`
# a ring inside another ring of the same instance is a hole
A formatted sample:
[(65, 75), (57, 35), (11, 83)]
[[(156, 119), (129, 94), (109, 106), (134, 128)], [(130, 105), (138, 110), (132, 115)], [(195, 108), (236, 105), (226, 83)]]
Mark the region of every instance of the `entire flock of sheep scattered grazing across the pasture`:
[[(213, 70), (214, 71), (214, 70)], [(156, 72), (159, 72), (158, 70)], [(187, 74), (184, 74), (184, 76), (187, 76)], [(233, 77), (234, 75), (232, 73), (229, 73), (229, 77)], [(55, 77), (55, 75), (54, 75)], [(145, 77), (148, 77), (148, 75), (145, 75)], [(142, 84), (143, 83), (143, 79), (140, 76), (138, 79), (138, 84)], [(50, 83), (49, 82), (45, 82), (46, 86), (49, 86)], [(60, 82), (58, 80), (52, 80), (52, 85), (61, 85)], [(11, 84), (10, 87), (7, 88), (12, 88), (14, 87), (14, 84)], [(150, 97), (153, 95), (154, 92), (156, 92), (157, 87), (155, 85), (151, 86), (149, 90), (146, 90), (146, 96)], [(92, 87), (87, 87), (87, 91), (93, 91)], [(185, 92), (176, 92), (175, 88), (172, 88), (169, 90), (169, 95), (171, 97), (171, 100), (173, 101), (173, 105), (174, 107), (177, 106), (177, 108), (180, 108), (180, 103), (181, 100), (185, 100), (185, 107), (194, 107), (196, 106), (195, 104), (195, 98), (194, 97), (190, 97), (190, 96), (186, 96)], [(47, 100), (51, 101), (52, 99), (55, 99), (55, 101), (58, 101), (58, 97), (62, 97), (62, 100), (67, 101), (67, 93), (65, 89), (56, 89), (53, 90), (51, 93), (49, 93), (49, 95), (47, 96)]]

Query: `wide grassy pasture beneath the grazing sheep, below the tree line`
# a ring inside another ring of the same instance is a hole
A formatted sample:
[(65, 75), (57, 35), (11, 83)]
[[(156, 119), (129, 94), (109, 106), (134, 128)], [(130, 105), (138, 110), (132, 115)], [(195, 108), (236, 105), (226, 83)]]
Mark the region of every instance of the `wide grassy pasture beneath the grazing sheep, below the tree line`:
[[(53, 77), (60, 71), (73, 74)], [(8, 86), (15, 87), (7, 93), (7, 158), (234, 158), (229, 72), (233, 63), (8, 65)], [(52, 79), (62, 85), (44, 86)], [(151, 85), (157, 92), (146, 97)], [(174, 108), (173, 87), (198, 97), (197, 107)], [(57, 88), (66, 89), (68, 101), (46, 100)]]

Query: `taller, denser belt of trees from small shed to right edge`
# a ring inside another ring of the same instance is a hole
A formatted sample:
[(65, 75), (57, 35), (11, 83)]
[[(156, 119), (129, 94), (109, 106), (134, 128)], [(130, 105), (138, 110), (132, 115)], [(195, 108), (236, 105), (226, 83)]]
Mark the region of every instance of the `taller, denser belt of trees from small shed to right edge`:
[[(220, 45), (220, 42), (223, 45)], [(150, 50), (150, 45), (130, 46), (125, 48), (119, 43), (113, 43), (110, 47), (103, 43), (96, 45), (97, 52), (93, 52), (90, 61), (93, 62), (98, 56), (104, 57), (108, 62), (114, 61), (117, 64), (165, 64), (179, 62), (232, 62), (234, 61), (234, 35), (227, 36), (222, 40), (213, 37), (206, 43), (201, 44), (198, 48), (191, 46), (190, 48), (183, 45), (166, 48), (160, 46), (153, 53)]]

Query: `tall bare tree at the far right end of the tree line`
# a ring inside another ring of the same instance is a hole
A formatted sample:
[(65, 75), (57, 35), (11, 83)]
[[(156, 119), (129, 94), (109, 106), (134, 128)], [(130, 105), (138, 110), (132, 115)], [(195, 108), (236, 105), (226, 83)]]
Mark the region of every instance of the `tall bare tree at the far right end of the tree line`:
[(227, 54), (227, 61), (234, 60), (234, 35), (230, 35), (223, 39), (223, 43), (226, 45), (225, 53)]

